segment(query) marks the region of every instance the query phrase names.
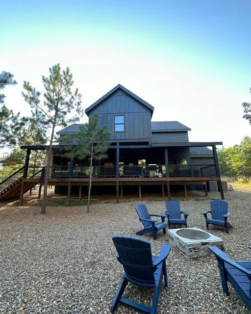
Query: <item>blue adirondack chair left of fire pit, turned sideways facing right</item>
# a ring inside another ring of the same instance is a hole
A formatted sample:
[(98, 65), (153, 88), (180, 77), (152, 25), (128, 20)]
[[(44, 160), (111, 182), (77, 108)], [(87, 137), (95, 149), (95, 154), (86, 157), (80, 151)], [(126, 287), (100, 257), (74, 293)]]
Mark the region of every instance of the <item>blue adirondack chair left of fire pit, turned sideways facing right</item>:
[[(136, 235), (145, 235), (151, 234), (153, 235), (153, 239), (157, 240), (156, 233), (160, 230), (163, 230), (163, 234), (166, 234), (167, 224), (165, 222), (166, 215), (162, 214), (149, 214), (146, 205), (138, 204), (135, 206), (135, 209), (139, 215), (139, 220), (142, 222), (144, 229), (136, 232)], [(157, 222), (157, 220), (151, 219), (151, 216), (161, 217), (161, 222)]]

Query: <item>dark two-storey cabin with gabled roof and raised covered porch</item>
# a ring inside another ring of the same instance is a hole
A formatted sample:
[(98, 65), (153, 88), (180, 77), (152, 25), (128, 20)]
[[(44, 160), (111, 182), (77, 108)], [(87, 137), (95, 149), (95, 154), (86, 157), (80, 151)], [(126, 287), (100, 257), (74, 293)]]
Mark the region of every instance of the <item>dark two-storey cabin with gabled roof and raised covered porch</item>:
[[(93, 194), (116, 194), (117, 202), (123, 193), (156, 191), (171, 197), (172, 190), (182, 188), (187, 196), (187, 187), (203, 186), (207, 195), (207, 183), (216, 181), (222, 199), (219, 163), (216, 145), (222, 142), (190, 142), (191, 129), (178, 121), (152, 121), (154, 107), (126, 89), (117, 85), (94, 104), (85, 109), (90, 119), (98, 114), (99, 127), (107, 126), (111, 144), (106, 159), (94, 162)], [(76, 134), (81, 124), (73, 124), (57, 134)], [(75, 145), (76, 143), (72, 143)], [(44, 167), (30, 167), (31, 150), (48, 150), (48, 146), (22, 146), (27, 151), (23, 169), (18, 175), (20, 188), (14, 196), (20, 196), (34, 184), (44, 183)], [(211, 149), (209, 149), (211, 148)], [(49, 184), (55, 185), (55, 193), (87, 194), (90, 166), (87, 159), (69, 159), (62, 145), (52, 147)], [(15, 176), (14, 176), (15, 177)], [(16, 177), (17, 178), (17, 174)], [(8, 179), (6, 184), (15, 179)], [(9, 187), (8, 186), (8, 187)], [(0, 183), (1, 187), (1, 183)], [(10, 188), (9, 188), (10, 189)], [(8, 198), (2, 190), (0, 199)]]

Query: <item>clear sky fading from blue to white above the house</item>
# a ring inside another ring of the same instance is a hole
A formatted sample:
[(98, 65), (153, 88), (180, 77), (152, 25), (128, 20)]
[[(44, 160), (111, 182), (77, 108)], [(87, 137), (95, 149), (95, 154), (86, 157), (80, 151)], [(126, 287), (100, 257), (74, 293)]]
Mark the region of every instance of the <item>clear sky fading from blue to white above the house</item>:
[(60, 63), (84, 109), (120, 83), (154, 107), (152, 121), (191, 128), (190, 141), (251, 136), (241, 105), (251, 102), (250, 0), (0, 0), (0, 11), (14, 112), (30, 114), (23, 81), (43, 92), (42, 75)]

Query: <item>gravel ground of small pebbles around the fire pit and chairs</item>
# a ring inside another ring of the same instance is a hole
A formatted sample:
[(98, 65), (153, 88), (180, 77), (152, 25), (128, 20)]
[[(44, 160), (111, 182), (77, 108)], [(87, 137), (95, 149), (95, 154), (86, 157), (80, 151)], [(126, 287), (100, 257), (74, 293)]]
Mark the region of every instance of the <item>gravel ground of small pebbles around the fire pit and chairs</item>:
[[(219, 193), (211, 192), (219, 199)], [(225, 241), (226, 253), (234, 260), (251, 260), (251, 194), (226, 192), (229, 235), (210, 226), (209, 232)], [(163, 201), (146, 201), (149, 211), (163, 213)], [(85, 208), (48, 207), (0, 209), (0, 313), (109, 313), (123, 268), (116, 260), (113, 235), (135, 235), (142, 228), (134, 206), (137, 199), (120, 204), (96, 204), (91, 213)], [(190, 213), (188, 227), (205, 228), (202, 210), (209, 200), (181, 202)], [(152, 253), (167, 243), (158, 233), (150, 235)], [(162, 286), (157, 313), (247, 314), (249, 310), (230, 288), (227, 297), (221, 287), (214, 256), (188, 260), (172, 247), (167, 260), (169, 287)], [(125, 296), (146, 305), (152, 291), (129, 285)], [(119, 305), (116, 313), (135, 314)]]

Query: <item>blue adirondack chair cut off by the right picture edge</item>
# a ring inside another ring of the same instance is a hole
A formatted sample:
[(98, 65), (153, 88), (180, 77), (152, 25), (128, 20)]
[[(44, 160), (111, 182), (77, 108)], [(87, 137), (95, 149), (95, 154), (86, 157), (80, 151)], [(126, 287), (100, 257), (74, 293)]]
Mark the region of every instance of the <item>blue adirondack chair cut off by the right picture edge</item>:
[(217, 258), (223, 291), (226, 295), (229, 295), (227, 287), (227, 282), (229, 282), (242, 301), (251, 310), (251, 261), (234, 262), (218, 247), (209, 246), (208, 249)]

